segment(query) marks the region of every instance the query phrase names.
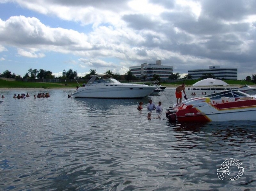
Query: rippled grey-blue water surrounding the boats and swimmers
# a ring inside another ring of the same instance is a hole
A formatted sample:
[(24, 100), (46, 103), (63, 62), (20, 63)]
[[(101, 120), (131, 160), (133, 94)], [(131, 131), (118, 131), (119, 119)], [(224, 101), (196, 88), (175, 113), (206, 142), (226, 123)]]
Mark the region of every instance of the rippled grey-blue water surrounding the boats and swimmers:
[[(43, 91), (0, 91), (0, 190), (255, 190), (255, 122), (174, 124), (165, 112), (149, 121), (148, 98), (32, 97)], [(174, 89), (151, 99), (165, 110)], [(234, 165), (226, 179), (217, 176), (229, 158), (242, 163), (238, 180), (229, 180)]]

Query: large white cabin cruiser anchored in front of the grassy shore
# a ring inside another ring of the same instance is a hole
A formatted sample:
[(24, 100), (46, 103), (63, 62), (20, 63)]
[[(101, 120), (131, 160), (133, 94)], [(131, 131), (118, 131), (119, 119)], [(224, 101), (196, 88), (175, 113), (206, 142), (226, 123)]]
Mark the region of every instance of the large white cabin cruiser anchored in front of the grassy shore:
[(79, 87), (71, 96), (79, 98), (143, 98), (154, 92), (156, 87), (121, 83), (108, 74), (98, 74), (92, 77), (83, 87)]

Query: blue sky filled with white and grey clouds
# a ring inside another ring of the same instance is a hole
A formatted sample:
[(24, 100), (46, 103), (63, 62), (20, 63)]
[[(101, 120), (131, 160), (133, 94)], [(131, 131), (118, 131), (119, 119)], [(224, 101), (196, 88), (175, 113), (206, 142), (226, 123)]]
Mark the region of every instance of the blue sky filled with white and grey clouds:
[(145, 62), (256, 74), (255, 0), (0, 0), (0, 73), (124, 74)]

